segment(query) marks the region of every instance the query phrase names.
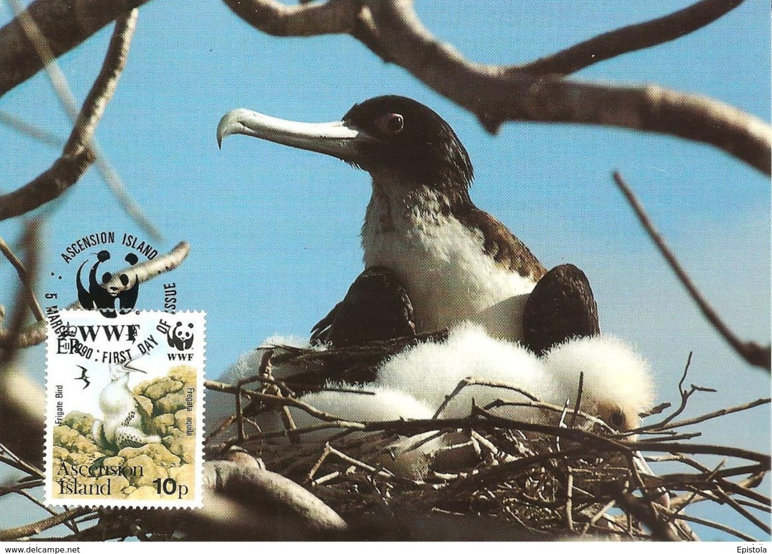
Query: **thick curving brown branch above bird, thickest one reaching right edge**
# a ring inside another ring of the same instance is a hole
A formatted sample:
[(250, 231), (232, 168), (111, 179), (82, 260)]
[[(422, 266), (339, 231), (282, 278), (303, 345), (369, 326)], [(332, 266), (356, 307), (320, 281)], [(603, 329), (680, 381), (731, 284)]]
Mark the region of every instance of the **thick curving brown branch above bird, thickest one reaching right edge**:
[(475, 113), (487, 130), (505, 121), (590, 123), (711, 144), (770, 174), (772, 129), (705, 96), (658, 86), (580, 83), (466, 60), (438, 42), (409, 0), (368, 2), (391, 59), (443, 96)]

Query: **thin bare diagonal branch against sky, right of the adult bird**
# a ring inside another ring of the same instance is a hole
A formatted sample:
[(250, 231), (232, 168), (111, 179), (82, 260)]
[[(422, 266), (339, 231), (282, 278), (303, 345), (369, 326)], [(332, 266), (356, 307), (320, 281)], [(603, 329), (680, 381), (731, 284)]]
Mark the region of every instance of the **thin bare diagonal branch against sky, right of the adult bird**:
[(684, 285), (686, 291), (689, 292), (689, 296), (692, 297), (697, 306), (699, 306), (699, 309), (703, 312), (703, 316), (708, 319), (711, 325), (713, 325), (713, 328), (716, 329), (716, 331), (718, 331), (721, 336), (723, 336), (726, 342), (732, 346), (734, 351), (742, 356), (743, 360), (747, 361), (747, 363), (750, 363), (753, 366), (762, 367), (765, 370), (770, 371), (770, 367), (772, 367), (772, 355), (770, 355), (770, 346), (760, 346), (757, 343), (740, 340), (734, 333), (732, 333), (729, 327), (726, 326), (726, 323), (723, 323), (723, 321), (720, 319), (716, 313), (716, 310), (714, 310), (713, 307), (709, 305), (707, 300), (703, 297), (702, 293), (697, 290), (697, 287), (694, 282), (692, 282), (692, 279), (689, 279), (689, 275), (686, 275), (686, 272), (681, 267), (678, 259), (675, 258), (675, 255), (673, 255), (673, 253), (670, 251), (670, 248), (668, 248), (668, 246), (665, 244), (665, 240), (662, 238), (662, 235), (659, 234), (659, 231), (654, 228), (652, 221), (648, 218), (648, 215), (646, 215), (646, 212), (644, 211), (641, 203), (638, 201), (638, 198), (635, 198), (635, 194), (633, 194), (630, 187), (627, 183), (625, 183), (625, 180), (622, 178), (618, 171), (614, 172), (614, 181), (619, 187), (619, 190), (622, 191), (622, 194), (625, 194), (625, 198), (627, 198), (628, 202), (632, 206), (633, 210), (635, 211), (635, 215), (638, 216), (638, 220), (641, 221), (641, 225), (643, 225), (643, 228), (645, 228), (648, 236), (652, 238), (652, 241), (654, 241), (655, 245), (657, 245), (657, 248), (659, 248), (659, 252), (662, 253), (662, 256), (665, 257), (668, 265), (670, 265), (670, 268), (675, 272), (675, 275), (678, 275), (682, 285)]

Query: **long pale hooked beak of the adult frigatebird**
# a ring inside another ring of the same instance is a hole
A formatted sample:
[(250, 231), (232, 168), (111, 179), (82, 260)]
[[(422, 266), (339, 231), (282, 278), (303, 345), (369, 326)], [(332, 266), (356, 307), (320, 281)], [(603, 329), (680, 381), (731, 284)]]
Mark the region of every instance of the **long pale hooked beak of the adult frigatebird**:
[(357, 163), (363, 147), (377, 142), (358, 127), (345, 121), (303, 123), (266, 116), (239, 108), (226, 113), (217, 126), (217, 144), (232, 134), (248, 135), (303, 150), (311, 150)]

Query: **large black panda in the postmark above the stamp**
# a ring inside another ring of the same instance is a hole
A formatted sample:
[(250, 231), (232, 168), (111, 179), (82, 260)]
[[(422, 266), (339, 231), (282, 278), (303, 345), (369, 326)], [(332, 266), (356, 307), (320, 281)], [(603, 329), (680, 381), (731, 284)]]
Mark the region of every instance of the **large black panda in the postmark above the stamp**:
[[(125, 273), (118, 275), (118, 280), (123, 287), (119, 286), (107, 286), (113, 279), (113, 274), (110, 272), (104, 272), (101, 275), (101, 283), (97, 280), (97, 273), (99, 272), (100, 265), (107, 262), (110, 259), (110, 252), (102, 250), (97, 253), (97, 262), (91, 266), (89, 271), (89, 287), (86, 289), (83, 286), (81, 280), (81, 273), (83, 267), (88, 263), (88, 260), (80, 264), (78, 272), (75, 276), (75, 283), (78, 289), (78, 301), (80, 306), (86, 309), (98, 309), (100, 313), (105, 317), (117, 317), (118, 313), (127, 313), (134, 309), (134, 305), (137, 303), (137, 295), (139, 294), (140, 282), (137, 276), (134, 276), (134, 283), (129, 286), (129, 276)], [(137, 255), (129, 253), (124, 258), (129, 265), (137, 263)], [(115, 301), (118, 301), (118, 309), (116, 309)]]

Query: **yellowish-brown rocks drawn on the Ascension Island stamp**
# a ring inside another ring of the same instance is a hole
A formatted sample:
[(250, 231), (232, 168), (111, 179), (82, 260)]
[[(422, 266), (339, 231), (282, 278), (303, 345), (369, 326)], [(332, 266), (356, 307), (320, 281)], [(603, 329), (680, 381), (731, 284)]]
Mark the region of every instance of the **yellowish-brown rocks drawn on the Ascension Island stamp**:
[[(92, 434), (94, 416), (73, 411), (53, 430), (53, 458), (55, 481), (73, 480), (76, 468), (90, 468), (95, 462), (101, 466), (127, 468), (123, 475), (111, 475), (110, 496), (136, 500), (157, 499), (153, 481), (173, 478), (188, 485), (193, 491), (195, 436), (186, 434), (187, 418), (194, 412), (187, 409), (185, 390), (197, 387), (195, 368), (176, 366), (166, 377), (144, 381), (134, 387), (134, 397), (153, 416), (153, 432), (161, 437), (161, 444), (145, 444), (140, 448), (110, 451), (96, 444)], [(195, 403), (195, 395), (193, 399)], [(194, 404), (194, 410), (197, 409)], [(100, 417), (100, 415), (97, 415)], [(194, 417), (195, 421), (195, 417)], [(65, 466), (63, 468), (62, 466)], [(137, 471), (141, 466), (141, 471)], [(58, 474), (58, 475), (57, 475)], [(141, 474), (141, 475), (139, 475)], [(100, 478), (77, 475), (78, 482), (102, 485), (107, 476)], [(192, 494), (189, 492), (188, 494)]]

